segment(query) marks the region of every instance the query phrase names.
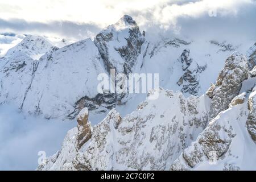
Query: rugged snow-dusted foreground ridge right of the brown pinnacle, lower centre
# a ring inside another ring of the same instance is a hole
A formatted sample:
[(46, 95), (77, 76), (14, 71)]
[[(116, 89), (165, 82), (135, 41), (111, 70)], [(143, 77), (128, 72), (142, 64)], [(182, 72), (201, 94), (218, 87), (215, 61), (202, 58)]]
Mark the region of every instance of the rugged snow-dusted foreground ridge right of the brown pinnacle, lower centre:
[[(75, 143), (79, 131), (69, 131), (57, 154), (61, 157), (43, 169), (168, 169), (203, 131), (208, 109), (207, 96), (186, 99), (181, 93), (160, 89), (158, 100), (143, 102), (124, 118), (111, 110), (91, 129), (90, 140), (78, 152)], [(71, 155), (63, 155), (67, 151)]]

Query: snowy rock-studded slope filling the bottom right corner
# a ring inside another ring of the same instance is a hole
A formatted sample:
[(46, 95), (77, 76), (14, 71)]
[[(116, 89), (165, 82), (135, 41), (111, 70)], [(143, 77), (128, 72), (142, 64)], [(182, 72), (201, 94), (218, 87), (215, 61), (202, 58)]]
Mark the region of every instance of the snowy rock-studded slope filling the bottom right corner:
[(252, 108), (255, 102), (248, 108), (248, 97), (255, 100), (255, 91), (234, 98), (229, 109), (222, 111), (209, 123), (171, 169), (256, 170), (256, 144), (252, 138), (255, 137), (255, 116), (250, 120), (251, 113), (255, 115)]

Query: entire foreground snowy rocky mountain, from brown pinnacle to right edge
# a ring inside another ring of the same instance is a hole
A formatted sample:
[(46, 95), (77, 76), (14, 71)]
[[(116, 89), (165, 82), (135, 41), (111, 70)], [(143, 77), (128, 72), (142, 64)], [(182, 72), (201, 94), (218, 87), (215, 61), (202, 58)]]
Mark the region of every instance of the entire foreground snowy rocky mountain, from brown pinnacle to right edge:
[(112, 109), (96, 126), (81, 110), (78, 127), (38, 169), (255, 170), (256, 67), (247, 64), (233, 53), (203, 96), (160, 88), (158, 100), (123, 118)]

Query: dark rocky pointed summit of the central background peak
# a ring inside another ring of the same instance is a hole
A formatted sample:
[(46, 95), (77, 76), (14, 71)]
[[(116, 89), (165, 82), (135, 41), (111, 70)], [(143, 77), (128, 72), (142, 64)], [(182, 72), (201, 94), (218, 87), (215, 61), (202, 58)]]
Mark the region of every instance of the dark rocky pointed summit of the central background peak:
[(131, 73), (144, 42), (137, 23), (129, 15), (124, 15), (94, 39), (109, 73), (110, 69), (117, 73)]

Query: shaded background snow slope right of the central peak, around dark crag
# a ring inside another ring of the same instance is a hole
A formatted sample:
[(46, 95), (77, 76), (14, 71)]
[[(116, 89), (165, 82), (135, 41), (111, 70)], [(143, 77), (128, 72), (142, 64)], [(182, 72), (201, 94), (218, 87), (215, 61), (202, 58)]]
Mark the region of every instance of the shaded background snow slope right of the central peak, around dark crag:
[[(228, 48), (224, 49), (224, 45)], [(187, 97), (204, 94), (224, 67), (226, 57), (240, 50), (230, 43), (177, 38), (148, 42), (143, 48), (142, 60), (138, 60), (141, 69), (136, 71), (159, 73), (160, 86), (181, 90)]]

